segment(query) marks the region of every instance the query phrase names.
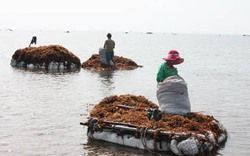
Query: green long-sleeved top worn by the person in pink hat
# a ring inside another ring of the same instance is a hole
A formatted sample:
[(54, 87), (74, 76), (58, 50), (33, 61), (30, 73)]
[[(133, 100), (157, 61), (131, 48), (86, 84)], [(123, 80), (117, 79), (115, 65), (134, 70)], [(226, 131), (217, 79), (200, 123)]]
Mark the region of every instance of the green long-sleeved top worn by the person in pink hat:
[(178, 75), (177, 68), (174, 67), (174, 69), (170, 70), (166, 62), (163, 62), (159, 67), (156, 80), (157, 82), (163, 82), (167, 77), (174, 75)]

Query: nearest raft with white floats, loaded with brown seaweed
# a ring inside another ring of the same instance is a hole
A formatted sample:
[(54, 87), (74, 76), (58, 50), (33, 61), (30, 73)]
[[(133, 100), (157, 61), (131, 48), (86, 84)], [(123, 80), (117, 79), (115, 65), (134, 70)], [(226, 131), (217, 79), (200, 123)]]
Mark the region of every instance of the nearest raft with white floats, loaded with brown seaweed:
[(216, 149), (227, 139), (226, 129), (213, 116), (162, 114), (149, 120), (147, 109), (158, 106), (143, 96), (104, 98), (90, 112), (88, 136), (94, 139), (177, 155), (196, 155)]

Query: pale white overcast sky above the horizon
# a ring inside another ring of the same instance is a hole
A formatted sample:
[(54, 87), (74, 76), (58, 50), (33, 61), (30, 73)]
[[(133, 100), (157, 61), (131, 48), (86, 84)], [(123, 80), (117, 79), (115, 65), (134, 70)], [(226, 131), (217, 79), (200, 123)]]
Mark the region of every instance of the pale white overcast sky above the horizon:
[(0, 29), (250, 34), (250, 0), (0, 0)]

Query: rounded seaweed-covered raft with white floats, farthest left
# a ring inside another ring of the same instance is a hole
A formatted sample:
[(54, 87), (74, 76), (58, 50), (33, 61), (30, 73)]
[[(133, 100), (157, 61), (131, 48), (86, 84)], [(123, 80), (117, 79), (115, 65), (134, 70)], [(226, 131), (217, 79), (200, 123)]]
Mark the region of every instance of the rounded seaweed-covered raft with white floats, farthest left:
[(80, 69), (81, 61), (60, 45), (26, 47), (12, 55), (14, 67), (40, 68), (46, 70)]

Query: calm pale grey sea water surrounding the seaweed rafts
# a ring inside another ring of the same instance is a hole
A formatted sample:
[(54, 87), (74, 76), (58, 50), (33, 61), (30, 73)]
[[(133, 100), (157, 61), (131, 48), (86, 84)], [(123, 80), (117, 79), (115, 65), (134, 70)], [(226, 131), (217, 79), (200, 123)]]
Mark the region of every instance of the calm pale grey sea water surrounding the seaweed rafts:
[(185, 59), (176, 67), (188, 83), (192, 111), (213, 115), (228, 130), (225, 146), (210, 155), (250, 154), (250, 37), (114, 32), (115, 55), (143, 68), (54, 73), (10, 66), (32, 36), (36, 46), (59, 44), (84, 62), (98, 53), (106, 33), (0, 31), (0, 155), (158, 155), (88, 140), (79, 123), (110, 95), (143, 95), (157, 103), (156, 72), (171, 49)]

